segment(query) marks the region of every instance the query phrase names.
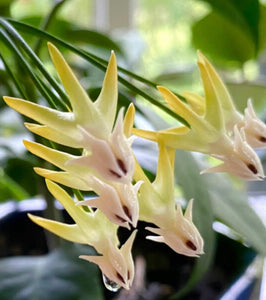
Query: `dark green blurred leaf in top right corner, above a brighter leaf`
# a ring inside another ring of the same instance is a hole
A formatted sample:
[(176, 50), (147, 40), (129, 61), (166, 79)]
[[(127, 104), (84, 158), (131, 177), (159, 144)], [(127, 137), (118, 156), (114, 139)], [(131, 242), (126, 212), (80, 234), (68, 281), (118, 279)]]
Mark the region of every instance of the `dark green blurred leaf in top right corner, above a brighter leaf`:
[[(258, 0), (203, 0), (208, 2), (214, 11), (232, 22), (252, 38), (255, 48), (258, 47), (260, 8)], [(227, 32), (225, 32), (227, 34)]]

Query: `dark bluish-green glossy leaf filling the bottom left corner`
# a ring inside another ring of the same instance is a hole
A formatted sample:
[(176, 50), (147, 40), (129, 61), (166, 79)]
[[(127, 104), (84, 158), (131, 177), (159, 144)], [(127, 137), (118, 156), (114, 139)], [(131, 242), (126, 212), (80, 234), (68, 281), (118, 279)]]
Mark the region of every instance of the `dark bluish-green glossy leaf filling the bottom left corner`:
[(88, 252), (69, 243), (44, 256), (0, 260), (0, 299), (103, 299), (97, 267), (78, 258)]

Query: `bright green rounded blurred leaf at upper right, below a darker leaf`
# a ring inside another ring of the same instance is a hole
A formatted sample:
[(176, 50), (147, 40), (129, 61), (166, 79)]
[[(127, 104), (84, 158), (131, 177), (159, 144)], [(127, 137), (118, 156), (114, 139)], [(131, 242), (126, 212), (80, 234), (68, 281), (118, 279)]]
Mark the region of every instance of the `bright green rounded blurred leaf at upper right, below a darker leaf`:
[(192, 33), (195, 47), (217, 63), (242, 65), (255, 56), (251, 35), (217, 12), (196, 22)]

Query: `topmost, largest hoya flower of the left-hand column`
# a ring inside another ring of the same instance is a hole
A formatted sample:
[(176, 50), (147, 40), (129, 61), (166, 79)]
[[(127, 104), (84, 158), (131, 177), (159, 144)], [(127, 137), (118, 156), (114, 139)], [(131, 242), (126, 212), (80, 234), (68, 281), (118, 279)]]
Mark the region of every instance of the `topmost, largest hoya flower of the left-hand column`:
[(85, 164), (108, 180), (131, 181), (134, 158), (131, 140), (123, 134), (123, 110), (115, 123), (118, 91), (114, 53), (100, 95), (93, 102), (57, 48), (50, 43), (48, 47), (72, 110), (62, 112), (11, 97), (4, 97), (5, 102), (40, 123), (26, 124), (32, 132), (62, 145), (84, 149), (82, 158), (69, 163)]

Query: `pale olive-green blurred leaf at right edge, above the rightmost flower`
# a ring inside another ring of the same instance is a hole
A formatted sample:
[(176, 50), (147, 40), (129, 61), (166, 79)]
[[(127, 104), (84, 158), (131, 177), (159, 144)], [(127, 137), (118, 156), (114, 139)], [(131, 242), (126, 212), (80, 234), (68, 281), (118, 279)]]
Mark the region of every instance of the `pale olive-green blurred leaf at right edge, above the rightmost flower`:
[(266, 86), (251, 83), (227, 83), (226, 84), (237, 108), (244, 112), (247, 107), (247, 101), (252, 98), (255, 110), (264, 112), (266, 102)]

